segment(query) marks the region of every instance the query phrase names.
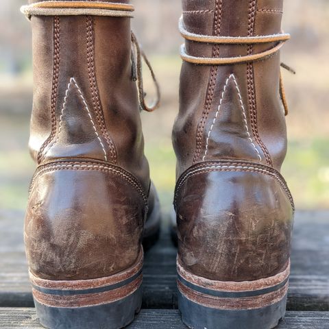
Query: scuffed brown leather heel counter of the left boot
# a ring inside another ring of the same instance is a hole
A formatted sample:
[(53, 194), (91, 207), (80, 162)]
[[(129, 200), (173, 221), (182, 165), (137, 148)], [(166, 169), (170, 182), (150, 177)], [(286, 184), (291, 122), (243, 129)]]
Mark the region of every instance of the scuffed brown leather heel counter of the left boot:
[(110, 276), (141, 250), (147, 197), (136, 179), (105, 162), (53, 162), (32, 180), (25, 218), (29, 268), (50, 280)]

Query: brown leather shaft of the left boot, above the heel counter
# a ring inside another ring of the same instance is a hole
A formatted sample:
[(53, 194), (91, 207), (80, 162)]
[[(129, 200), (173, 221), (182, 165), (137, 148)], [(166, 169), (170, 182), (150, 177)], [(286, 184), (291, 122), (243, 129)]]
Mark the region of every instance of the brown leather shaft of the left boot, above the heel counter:
[(53, 14), (31, 17), (32, 157), (101, 160), (148, 184), (130, 18)]

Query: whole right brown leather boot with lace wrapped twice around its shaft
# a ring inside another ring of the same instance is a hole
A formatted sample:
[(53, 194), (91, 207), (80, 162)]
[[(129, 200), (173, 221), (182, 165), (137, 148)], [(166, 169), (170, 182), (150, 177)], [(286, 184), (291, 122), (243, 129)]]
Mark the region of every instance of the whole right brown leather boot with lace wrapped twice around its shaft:
[[(273, 328), (284, 316), (293, 199), (282, 0), (183, 0), (178, 302), (190, 328)], [(283, 106), (282, 106), (283, 103)]]

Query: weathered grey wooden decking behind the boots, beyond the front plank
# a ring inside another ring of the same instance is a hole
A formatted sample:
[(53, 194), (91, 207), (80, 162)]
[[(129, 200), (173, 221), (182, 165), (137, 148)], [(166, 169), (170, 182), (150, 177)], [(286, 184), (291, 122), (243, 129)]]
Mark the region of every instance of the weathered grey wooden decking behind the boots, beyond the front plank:
[[(0, 306), (32, 307), (23, 252), (23, 215), (0, 214)], [(145, 256), (143, 308), (177, 308), (176, 249), (169, 229)], [(329, 211), (297, 212), (289, 310), (329, 310)]]

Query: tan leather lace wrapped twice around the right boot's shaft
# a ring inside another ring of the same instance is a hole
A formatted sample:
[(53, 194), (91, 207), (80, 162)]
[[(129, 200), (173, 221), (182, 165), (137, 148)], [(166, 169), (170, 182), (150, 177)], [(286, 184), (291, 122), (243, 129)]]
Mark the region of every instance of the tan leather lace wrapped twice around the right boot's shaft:
[[(183, 44), (180, 48), (180, 56), (185, 62), (199, 65), (233, 65), (233, 64), (245, 64), (247, 62), (256, 62), (258, 60), (265, 60), (270, 58), (277, 53), (284, 42), (290, 39), (290, 34), (280, 32), (278, 34), (271, 34), (266, 36), (206, 36), (202, 34), (194, 34), (188, 32), (184, 27), (183, 17), (181, 16), (178, 27), (180, 34), (183, 38), (190, 41), (202, 42), (214, 45), (260, 45), (270, 42), (275, 42), (275, 45), (271, 49), (261, 51), (260, 53), (253, 53), (246, 56), (236, 56), (227, 58), (207, 58), (191, 56), (186, 53), (185, 45)], [(291, 73), (295, 74), (295, 71), (284, 63), (281, 63), (282, 68), (287, 69)], [(284, 114), (288, 114), (288, 104), (284, 92), (284, 86), (282, 81), (282, 73), (280, 73), (280, 98), (284, 107)]]

